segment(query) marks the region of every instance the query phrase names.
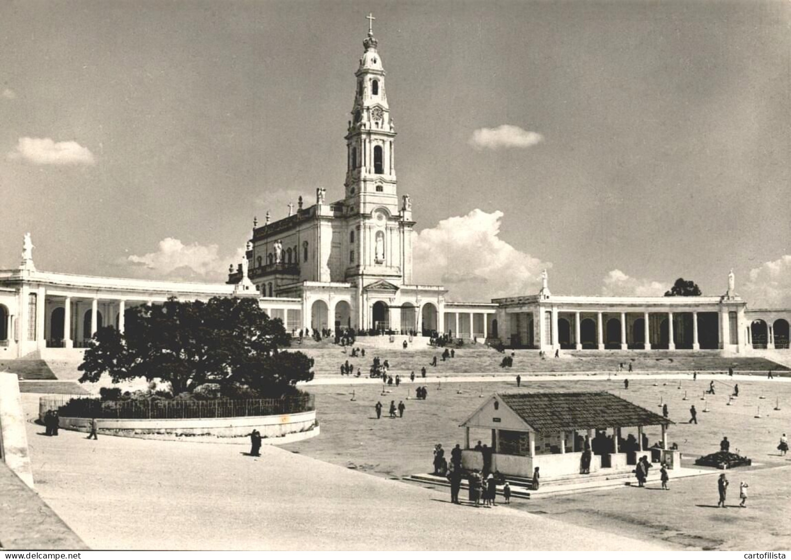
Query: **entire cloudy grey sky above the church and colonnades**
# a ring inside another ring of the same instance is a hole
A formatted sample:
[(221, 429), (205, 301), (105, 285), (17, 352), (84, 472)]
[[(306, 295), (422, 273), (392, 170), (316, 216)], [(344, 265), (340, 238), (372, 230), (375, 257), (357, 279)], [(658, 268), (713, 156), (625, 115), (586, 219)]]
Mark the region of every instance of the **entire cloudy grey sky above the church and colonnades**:
[(791, 306), (785, 1), (2, 2), (0, 268), (223, 280), (343, 197), (369, 11), (416, 282)]

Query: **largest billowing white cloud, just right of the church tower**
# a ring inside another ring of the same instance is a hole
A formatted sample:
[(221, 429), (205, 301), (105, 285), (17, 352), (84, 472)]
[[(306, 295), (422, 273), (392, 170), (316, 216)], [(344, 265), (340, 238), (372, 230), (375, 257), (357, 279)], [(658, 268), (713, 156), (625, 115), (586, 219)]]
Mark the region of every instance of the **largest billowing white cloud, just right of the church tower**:
[(544, 264), (499, 238), (502, 212), (475, 209), (415, 236), (414, 280), (442, 284), (451, 301), (535, 294)]

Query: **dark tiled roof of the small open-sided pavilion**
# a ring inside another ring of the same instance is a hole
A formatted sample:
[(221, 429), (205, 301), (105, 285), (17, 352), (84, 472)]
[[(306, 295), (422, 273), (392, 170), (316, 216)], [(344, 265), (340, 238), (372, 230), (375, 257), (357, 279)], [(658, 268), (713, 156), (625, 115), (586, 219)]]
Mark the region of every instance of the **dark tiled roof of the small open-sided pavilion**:
[(672, 421), (611, 393), (498, 393), (534, 430), (656, 426)]

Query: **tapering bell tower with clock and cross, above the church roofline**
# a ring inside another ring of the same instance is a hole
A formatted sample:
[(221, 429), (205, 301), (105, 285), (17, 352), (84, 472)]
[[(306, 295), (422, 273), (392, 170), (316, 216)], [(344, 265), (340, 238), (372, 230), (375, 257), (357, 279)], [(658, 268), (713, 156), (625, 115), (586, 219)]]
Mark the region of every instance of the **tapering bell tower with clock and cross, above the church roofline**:
[(373, 15), (368, 15), (368, 36), (362, 44), (365, 52), (354, 77), (357, 87), (354, 107), (346, 131), (346, 205), (354, 213), (370, 214), (387, 209), (390, 216), (399, 213), (395, 182), (395, 126), (390, 118), (387, 90), (384, 86), (382, 59), (373, 37)]

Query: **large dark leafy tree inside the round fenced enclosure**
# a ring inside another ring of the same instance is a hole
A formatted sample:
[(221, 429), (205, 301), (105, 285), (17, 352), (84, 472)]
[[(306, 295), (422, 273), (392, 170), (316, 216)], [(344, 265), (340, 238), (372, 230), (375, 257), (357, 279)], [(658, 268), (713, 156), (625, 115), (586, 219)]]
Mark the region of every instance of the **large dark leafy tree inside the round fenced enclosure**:
[(168, 299), (127, 309), (124, 322), (123, 334), (105, 327), (90, 341), (80, 381), (98, 381), (104, 373), (116, 382), (161, 379), (174, 396), (205, 383), (221, 389), (241, 383), (261, 396), (278, 396), (313, 378), (313, 360), (280, 350), (290, 336), (255, 299)]

